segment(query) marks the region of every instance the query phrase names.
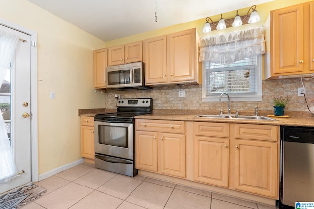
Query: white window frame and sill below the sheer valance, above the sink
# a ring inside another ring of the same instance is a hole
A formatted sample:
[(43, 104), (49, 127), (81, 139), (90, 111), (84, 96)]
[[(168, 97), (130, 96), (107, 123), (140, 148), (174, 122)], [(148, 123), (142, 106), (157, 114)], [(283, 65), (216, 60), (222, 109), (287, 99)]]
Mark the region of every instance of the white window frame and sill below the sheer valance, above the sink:
[[(219, 102), (221, 93), (206, 95), (206, 62), (202, 62), (202, 101), (203, 102)], [(256, 59), (256, 93), (228, 93), (230, 101), (262, 101), (262, 55), (258, 55)]]

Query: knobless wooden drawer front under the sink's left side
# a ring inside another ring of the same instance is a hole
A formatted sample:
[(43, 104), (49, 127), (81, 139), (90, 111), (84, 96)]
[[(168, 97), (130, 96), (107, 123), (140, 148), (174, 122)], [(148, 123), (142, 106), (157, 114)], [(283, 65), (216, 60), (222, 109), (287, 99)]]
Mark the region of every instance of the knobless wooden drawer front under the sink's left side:
[(228, 123), (195, 122), (194, 130), (196, 135), (229, 137)]

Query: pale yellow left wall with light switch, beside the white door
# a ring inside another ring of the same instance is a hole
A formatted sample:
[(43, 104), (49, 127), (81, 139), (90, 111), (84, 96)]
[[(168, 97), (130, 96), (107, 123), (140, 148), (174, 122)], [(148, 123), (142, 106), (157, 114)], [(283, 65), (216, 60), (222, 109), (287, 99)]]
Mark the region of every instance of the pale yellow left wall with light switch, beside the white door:
[(93, 88), (93, 50), (105, 42), (27, 0), (0, 0), (0, 19), (37, 32), (39, 174), (77, 161), (78, 109), (105, 107)]

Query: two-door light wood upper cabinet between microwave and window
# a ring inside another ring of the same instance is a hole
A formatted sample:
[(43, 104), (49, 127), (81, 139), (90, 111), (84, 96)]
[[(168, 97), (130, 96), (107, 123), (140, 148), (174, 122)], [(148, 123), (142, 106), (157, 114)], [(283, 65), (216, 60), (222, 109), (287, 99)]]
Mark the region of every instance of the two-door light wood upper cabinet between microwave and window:
[(145, 84), (196, 84), (196, 28), (144, 40)]

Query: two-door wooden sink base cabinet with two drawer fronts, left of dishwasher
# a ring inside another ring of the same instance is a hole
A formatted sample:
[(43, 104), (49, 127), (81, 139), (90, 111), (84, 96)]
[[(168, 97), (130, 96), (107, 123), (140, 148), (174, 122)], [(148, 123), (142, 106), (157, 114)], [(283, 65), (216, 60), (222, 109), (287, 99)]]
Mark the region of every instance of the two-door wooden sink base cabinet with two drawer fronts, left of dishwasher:
[(194, 180), (277, 199), (278, 130), (273, 125), (194, 122)]

